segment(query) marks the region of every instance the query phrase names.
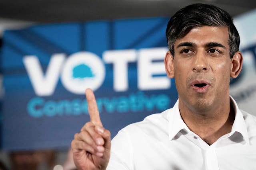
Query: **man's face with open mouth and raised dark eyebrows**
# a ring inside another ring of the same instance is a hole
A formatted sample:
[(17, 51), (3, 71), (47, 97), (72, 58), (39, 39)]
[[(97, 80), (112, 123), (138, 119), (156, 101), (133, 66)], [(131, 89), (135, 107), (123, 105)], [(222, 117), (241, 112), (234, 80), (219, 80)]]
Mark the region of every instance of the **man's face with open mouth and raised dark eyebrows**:
[[(229, 96), (233, 68), (228, 28), (196, 27), (175, 41), (174, 52), (172, 62), (168, 61), (168, 56), (172, 57), (169, 53), (165, 63), (173, 69), (180, 102), (195, 112), (220, 106)], [(173, 77), (172, 74), (168, 76)]]

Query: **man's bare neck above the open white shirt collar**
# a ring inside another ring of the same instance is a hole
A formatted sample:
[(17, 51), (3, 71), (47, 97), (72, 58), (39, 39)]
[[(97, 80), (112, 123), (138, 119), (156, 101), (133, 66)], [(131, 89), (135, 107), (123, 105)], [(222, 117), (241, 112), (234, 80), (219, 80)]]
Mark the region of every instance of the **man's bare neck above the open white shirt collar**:
[(188, 128), (196, 133), (208, 145), (217, 141), (223, 135), (230, 133), (235, 119), (233, 105), (230, 98), (218, 107), (204, 111), (191, 111), (179, 102), (180, 115)]

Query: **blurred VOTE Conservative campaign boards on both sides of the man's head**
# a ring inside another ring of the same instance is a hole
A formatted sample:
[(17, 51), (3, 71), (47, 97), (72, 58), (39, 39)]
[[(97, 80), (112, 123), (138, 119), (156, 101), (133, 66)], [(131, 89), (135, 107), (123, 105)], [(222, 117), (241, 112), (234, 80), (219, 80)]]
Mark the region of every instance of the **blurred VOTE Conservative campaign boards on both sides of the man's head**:
[[(86, 88), (94, 91), (102, 123), (112, 137), (126, 125), (172, 107), (178, 94), (163, 62), (168, 20), (92, 21), (5, 31), (0, 66), (2, 148), (70, 147), (74, 134), (90, 121)], [(255, 20), (256, 12), (235, 20), (244, 67), (231, 80), (230, 94), (256, 115)]]

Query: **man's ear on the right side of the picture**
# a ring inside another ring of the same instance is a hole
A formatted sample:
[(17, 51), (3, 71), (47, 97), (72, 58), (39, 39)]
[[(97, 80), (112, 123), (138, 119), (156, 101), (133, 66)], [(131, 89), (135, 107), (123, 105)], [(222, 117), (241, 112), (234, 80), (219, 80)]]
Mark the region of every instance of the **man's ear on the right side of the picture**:
[(240, 51), (237, 51), (231, 61), (231, 73), (230, 73), (230, 77), (232, 78), (236, 78), (239, 73), (242, 70), (242, 65), (243, 65), (243, 56), (242, 53)]

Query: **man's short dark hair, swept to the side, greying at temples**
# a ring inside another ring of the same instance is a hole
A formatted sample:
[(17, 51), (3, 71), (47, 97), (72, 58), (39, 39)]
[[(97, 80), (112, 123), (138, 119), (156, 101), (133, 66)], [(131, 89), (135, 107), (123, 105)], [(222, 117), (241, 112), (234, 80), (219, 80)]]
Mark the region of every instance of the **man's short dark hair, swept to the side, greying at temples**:
[(202, 26), (228, 27), (228, 44), (230, 58), (239, 51), (240, 37), (228, 12), (208, 4), (192, 4), (178, 10), (170, 18), (166, 28), (168, 48), (174, 57), (174, 43), (176, 39), (185, 37), (189, 31)]

